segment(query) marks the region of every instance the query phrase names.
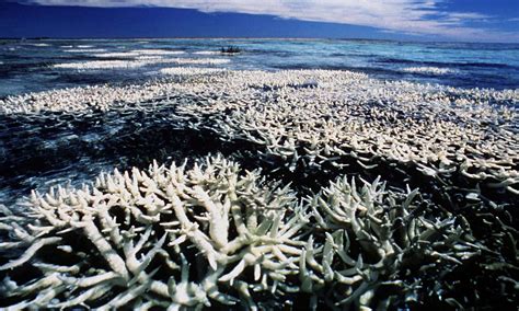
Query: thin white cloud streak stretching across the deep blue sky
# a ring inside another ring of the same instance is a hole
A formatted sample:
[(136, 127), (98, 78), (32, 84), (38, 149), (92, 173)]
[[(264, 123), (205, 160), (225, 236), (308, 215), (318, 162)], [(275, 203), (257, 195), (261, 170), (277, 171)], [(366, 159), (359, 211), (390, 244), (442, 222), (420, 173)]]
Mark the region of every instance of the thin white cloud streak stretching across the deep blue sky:
[(195, 9), (206, 13), (235, 12), (268, 14), (284, 19), (331, 22), (376, 27), (414, 35), (452, 39), (519, 41), (519, 34), (468, 23), (492, 19), (476, 12), (447, 12), (445, 0), (25, 0), (41, 5), (163, 7)]

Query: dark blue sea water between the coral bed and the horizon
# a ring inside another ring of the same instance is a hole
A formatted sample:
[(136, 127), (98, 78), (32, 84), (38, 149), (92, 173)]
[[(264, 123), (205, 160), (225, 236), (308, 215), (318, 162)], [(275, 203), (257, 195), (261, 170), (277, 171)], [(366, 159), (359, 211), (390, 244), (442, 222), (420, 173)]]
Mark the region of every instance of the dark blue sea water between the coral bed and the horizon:
[[(233, 56), (217, 53), (229, 45), (240, 47), (243, 53)], [(145, 65), (136, 65), (139, 53), (135, 50), (142, 49), (184, 54), (151, 53), (145, 55), (149, 57)], [(169, 58), (217, 58), (229, 59), (229, 62), (177, 65), (168, 62)], [(92, 61), (128, 61), (134, 66), (59, 68), (64, 64), (88, 65)], [(342, 69), (366, 72), (374, 78), (461, 88), (519, 88), (518, 44), (337, 39), (49, 39), (0, 41), (0, 96), (154, 79), (163, 76), (160, 71), (163, 68), (183, 66), (261, 70)]]

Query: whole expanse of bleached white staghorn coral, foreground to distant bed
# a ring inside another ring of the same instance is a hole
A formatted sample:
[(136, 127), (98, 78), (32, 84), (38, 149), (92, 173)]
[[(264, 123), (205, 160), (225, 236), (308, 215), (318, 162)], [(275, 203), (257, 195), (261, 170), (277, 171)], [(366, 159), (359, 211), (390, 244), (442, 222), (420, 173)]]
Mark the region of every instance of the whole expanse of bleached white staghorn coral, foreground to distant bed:
[[(209, 60), (196, 64), (223, 61)], [(1, 307), (517, 303), (518, 90), (348, 71), (164, 72), (0, 103), (21, 122), (168, 107), (173, 127), (232, 147), (2, 207)]]

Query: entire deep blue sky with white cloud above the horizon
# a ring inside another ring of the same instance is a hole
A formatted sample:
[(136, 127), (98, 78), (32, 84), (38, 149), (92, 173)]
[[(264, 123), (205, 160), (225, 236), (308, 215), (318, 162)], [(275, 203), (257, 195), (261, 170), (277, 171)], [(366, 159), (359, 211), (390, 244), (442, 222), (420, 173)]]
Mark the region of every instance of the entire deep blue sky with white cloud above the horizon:
[(519, 0), (0, 0), (0, 37), (519, 43)]

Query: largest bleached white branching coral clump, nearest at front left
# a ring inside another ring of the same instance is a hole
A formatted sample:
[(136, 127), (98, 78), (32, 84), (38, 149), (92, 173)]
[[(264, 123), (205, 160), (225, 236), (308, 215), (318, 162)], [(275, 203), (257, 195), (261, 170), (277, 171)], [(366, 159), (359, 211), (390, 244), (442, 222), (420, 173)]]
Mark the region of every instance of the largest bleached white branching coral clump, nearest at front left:
[[(0, 266), (1, 292), (11, 308), (253, 308), (260, 292), (292, 290), (285, 280), (308, 222), (295, 203), (288, 187), (221, 157), (33, 193), (23, 224), (11, 215), (0, 228), (12, 234), (2, 249), (22, 250)], [(32, 278), (18, 280), (27, 267)]]

